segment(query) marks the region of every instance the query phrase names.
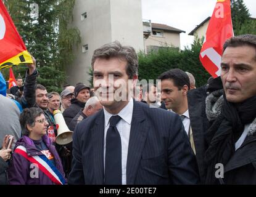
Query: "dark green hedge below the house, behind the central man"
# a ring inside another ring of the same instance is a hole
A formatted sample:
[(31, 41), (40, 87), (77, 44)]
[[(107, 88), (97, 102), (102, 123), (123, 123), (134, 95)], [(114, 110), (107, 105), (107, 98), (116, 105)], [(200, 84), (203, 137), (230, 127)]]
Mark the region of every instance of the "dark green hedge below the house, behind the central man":
[(158, 76), (172, 68), (180, 68), (194, 75), (196, 87), (200, 87), (207, 82), (210, 74), (204, 69), (199, 60), (199, 53), (202, 47), (202, 39), (195, 39), (191, 49), (186, 47), (184, 50), (175, 48), (159, 49), (157, 52), (143, 54), (139, 57), (139, 80), (157, 79)]

